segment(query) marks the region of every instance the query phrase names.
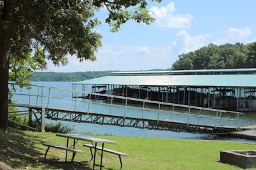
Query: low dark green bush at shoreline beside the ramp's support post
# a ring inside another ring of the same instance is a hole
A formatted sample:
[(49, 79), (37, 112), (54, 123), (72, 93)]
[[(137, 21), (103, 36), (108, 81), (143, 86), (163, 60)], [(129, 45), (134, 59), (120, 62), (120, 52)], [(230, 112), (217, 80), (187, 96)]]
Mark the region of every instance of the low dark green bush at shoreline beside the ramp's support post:
[(51, 122), (45, 125), (45, 132), (66, 134), (72, 131), (74, 131), (74, 126), (63, 125), (61, 122)]

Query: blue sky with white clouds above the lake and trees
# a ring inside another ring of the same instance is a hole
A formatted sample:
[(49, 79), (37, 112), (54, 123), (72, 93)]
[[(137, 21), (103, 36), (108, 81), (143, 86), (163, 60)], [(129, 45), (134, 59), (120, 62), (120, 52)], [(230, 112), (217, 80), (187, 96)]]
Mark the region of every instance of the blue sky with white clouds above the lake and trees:
[(47, 61), (45, 71), (137, 71), (168, 69), (182, 53), (192, 52), (209, 43), (252, 43), (256, 41), (255, 0), (177, 0), (148, 1), (150, 25), (129, 21), (118, 32), (110, 32), (102, 9), (97, 16), (102, 24), (102, 47), (97, 60), (79, 62), (68, 56), (67, 66), (56, 67)]

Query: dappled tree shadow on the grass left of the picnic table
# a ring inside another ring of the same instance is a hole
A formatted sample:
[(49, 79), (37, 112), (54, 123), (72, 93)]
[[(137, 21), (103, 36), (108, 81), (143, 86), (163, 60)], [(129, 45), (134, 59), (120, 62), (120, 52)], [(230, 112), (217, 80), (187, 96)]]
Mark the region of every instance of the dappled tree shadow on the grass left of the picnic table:
[[(22, 131), (10, 128), (0, 131), (0, 161), (14, 169), (72, 169), (70, 162), (58, 162), (58, 159), (44, 160), (44, 154), (35, 147), (42, 140), (29, 136)], [(43, 151), (45, 152), (45, 151)], [(74, 164), (76, 169), (90, 169), (86, 165)]]

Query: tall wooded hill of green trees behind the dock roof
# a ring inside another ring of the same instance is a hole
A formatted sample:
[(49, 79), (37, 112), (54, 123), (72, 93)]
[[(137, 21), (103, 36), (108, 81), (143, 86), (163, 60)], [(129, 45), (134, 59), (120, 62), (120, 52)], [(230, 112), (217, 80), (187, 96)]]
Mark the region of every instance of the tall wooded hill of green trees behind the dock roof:
[(231, 69), (256, 67), (256, 43), (209, 44), (194, 52), (182, 53), (173, 70)]

